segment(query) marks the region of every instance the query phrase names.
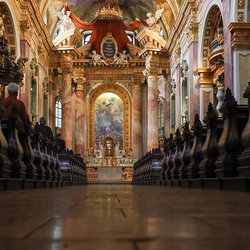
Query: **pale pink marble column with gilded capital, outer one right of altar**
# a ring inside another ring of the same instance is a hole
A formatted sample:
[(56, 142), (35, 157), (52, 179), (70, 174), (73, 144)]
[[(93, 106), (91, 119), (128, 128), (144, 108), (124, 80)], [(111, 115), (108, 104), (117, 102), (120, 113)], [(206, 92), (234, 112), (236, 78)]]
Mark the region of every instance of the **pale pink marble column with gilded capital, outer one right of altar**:
[(148, 82), (148, 142), (147, 150), (158, 148), (158, 75), (161, 69), (150, 68), (144, 71)]

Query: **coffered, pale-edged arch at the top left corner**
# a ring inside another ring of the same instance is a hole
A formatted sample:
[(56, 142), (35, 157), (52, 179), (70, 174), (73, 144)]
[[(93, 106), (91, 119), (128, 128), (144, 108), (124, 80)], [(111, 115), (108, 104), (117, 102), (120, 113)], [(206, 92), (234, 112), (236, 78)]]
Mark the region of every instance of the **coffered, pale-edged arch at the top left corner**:
[(16, 57), (20, 57), (20, 37), (18, 33), (18, 25), (16, 16), (11, 3), (8, 0), (0, 0), (0, 15), (5, 15), (4, 29), (5, 36), (8, 39), (8, 48), (14, 49)]

